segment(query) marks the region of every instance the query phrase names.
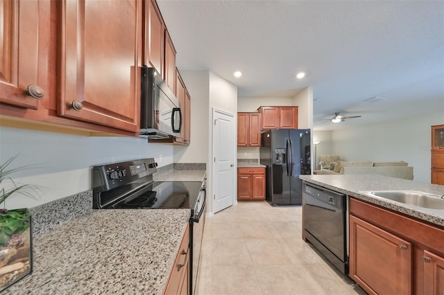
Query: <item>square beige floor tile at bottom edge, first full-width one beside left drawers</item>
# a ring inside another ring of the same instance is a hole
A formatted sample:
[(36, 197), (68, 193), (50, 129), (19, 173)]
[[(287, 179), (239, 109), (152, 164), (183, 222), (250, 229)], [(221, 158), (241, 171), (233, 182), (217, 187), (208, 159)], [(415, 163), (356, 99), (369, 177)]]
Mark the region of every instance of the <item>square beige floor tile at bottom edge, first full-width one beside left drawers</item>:
[(258, 295), (262, 294), (262, 291), (254, 267), (214, 266), (212, 268), (212, 294)]

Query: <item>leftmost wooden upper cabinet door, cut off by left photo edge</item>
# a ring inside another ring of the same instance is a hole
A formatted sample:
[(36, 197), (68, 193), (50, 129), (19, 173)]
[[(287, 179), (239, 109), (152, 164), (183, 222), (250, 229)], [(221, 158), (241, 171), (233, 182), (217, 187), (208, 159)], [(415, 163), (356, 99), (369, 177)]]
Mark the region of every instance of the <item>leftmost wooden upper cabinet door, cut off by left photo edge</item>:
[[(0, 102), (37, 109), (47, 98), (49, 13), (46, 0), (0, 2)], [(29, 85), (37, 98), (25, 91)]]

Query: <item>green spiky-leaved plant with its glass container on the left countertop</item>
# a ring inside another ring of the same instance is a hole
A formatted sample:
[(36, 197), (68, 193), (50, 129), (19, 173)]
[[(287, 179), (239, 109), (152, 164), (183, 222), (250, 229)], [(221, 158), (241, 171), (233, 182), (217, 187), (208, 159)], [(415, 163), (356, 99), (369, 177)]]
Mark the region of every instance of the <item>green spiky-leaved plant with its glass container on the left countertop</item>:
[[(28, 184), (15, 183), (10, 175), (24, 167), (9, 169), (12, 157), (0, 165), (0, 204), (12, 195), (35, 199)], [(8, 183), (8, 184), (6, 184)], [(7, 187), (7, 188), (5, 188)], [(32, 271), (31, 215), (27, 208), (0, 209), (0, 292)]]

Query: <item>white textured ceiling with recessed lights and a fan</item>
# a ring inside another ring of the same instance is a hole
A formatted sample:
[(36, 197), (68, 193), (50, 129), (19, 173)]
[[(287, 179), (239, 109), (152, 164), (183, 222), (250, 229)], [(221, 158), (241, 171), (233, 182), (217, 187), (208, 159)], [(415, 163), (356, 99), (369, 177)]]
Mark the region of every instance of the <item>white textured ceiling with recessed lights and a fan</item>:
[[(444, 1), (157, 2), (178, 69), (212, 71), (239, 98), (311, 86), (318, 130), (437, 111), (444, 120)], [(364, 102), (375, 96), (386, 99)], [(336, 111), (362, 117), (318, 121)]]

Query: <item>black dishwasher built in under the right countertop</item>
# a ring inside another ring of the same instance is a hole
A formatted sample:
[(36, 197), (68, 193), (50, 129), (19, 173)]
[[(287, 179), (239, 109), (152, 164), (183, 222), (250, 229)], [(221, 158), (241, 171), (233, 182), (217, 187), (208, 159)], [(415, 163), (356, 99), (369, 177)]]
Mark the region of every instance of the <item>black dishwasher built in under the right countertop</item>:
[(347, 197), (304, 183), (305, 238), (343, 274), (348, 274)]

